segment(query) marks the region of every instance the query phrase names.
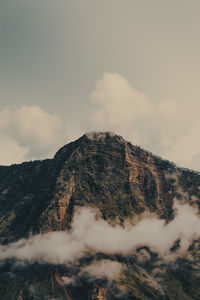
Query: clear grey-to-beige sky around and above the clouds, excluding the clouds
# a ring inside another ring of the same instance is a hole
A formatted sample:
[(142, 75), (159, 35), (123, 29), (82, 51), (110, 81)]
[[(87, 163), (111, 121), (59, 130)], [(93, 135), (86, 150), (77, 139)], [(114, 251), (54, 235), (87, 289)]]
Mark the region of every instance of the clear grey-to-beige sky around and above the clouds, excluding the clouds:
[(68, 141), (96, 129), (90, 95), (104, 72), (154, 104), (198, 109), (199, 13), (198, 0), (0, 1), (0, 109), (38, 105), (63, 120)]

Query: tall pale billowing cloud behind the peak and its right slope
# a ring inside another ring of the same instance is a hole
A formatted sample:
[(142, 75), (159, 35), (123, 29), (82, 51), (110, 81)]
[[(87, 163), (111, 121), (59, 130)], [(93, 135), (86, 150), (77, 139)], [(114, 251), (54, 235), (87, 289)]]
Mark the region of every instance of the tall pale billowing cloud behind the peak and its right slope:
[(116, 73), (104, 73), (91, 95), (97, 105), (91, 123), (182, 166), (199, 168), (197, 107), (164, 99), (155, 103)]

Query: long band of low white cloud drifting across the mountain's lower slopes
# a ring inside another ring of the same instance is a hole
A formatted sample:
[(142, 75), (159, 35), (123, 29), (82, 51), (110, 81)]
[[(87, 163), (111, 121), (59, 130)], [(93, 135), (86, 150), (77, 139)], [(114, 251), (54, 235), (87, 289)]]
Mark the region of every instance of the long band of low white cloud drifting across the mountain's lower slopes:
[[(188, 204), (175, 204), (175, 218), (165, 223), (154, 214), (144, 215), (136, 224), (111, 226), (97, 219), (91, 208), (76, 210), (70, 231), (49, 232), (9, 245), (0, 246), (0, 260), (16, 258), (30, 263), (73, 264), (88, 254), (132, 255), (141, 246), (148, 246), (161, 258), (174, 259), (187, 253), (194, 239), (200, 237), (200, 218)], [(180, 247), (171, 252), (174, 243)], [(88, 269), (92, 272), (92, 269)]]

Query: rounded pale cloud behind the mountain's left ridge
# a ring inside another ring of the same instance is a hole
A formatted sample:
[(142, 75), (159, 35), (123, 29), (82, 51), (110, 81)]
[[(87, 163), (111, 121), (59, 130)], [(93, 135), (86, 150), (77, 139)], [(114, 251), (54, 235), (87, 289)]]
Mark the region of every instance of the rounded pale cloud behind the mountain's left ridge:
[(1, 164), (47, 157), (64, 143), (61, 119), (39, 106), (1, 110), (0, 135)]

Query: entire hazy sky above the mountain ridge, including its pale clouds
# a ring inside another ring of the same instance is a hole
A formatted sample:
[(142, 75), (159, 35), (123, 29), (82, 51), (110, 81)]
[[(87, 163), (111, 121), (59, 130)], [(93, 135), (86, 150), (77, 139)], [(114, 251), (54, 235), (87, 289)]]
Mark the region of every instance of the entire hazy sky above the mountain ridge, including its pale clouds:
[(0, 1), (0, 163), (111, 130), (200, 170), (199, 0)]

